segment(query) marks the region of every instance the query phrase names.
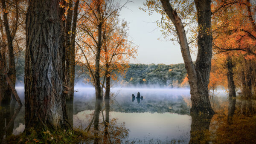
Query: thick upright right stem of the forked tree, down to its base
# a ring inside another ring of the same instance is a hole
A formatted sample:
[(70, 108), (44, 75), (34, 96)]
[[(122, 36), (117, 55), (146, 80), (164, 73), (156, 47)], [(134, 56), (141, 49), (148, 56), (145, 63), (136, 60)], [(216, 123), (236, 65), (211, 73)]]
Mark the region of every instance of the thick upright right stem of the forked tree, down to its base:
[(212, 60), (211, 0), (195, 0), (195, 6), (197, 9), (198, 26), (201, 27), (198, 31), (198, 55), (195, 61), (199, 93), (194, 90), (194, 95), (191, 95), (191, 110), (192, 112), (204, 111), (213, 114), (214, 111), (209, 101), (208, 91)]

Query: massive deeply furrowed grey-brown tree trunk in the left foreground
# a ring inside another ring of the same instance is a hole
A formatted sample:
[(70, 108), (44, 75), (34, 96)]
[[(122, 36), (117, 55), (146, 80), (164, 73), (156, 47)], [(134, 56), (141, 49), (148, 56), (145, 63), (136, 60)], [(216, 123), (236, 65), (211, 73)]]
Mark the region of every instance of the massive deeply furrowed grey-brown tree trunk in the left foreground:
[(67, 127), (58, 0), (29, 0), (26, 14), (25, 125)]

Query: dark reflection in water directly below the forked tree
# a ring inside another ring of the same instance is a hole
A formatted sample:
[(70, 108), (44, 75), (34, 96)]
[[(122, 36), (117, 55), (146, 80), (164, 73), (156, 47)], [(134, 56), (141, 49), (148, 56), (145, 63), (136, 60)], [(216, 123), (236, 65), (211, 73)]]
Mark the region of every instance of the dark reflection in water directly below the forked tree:
[(192, 123), (190, 130), (189, 144), (198, 144), (206, 138), (206, 132), (209, 130), (210, 122), (213, 115), (192, 114)]

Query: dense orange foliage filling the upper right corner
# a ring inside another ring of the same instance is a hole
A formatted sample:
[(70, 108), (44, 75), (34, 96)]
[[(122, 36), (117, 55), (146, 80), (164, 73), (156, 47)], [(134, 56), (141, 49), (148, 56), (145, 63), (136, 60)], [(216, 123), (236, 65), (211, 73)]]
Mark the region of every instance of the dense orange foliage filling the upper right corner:
[[(213, 43), (215, 52), (229, 52), (233, 55), (256, 52), (256, 32), (250, 21), (247, 5), (253, 9), (256, 5), (247, 0), (215, 0), (212, 10)], [(227, 50), (231, 49), (231, 50)], [(251, 52), (250, 52), (251, 51)]]

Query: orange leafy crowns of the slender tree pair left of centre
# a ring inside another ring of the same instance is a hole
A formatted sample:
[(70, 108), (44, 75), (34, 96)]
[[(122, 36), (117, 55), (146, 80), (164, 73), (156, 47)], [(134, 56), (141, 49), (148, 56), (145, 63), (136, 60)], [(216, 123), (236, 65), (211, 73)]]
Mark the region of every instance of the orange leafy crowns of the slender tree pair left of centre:
[[(119, 20), (118, 5), (109, 6), (111, 3), (83, 1), (78, 22), (78, 60), (89, 69), (91, 79), (99, 71), (102, 82), (106, 77), (117, 80), (117, 74), (125, 75), (129, 59), (135, 58), (137, 52), (136, 46), (127, 39), (127, 23)], [(100, 66), (96, 68), (98, 60)]]

